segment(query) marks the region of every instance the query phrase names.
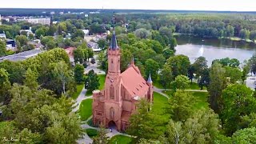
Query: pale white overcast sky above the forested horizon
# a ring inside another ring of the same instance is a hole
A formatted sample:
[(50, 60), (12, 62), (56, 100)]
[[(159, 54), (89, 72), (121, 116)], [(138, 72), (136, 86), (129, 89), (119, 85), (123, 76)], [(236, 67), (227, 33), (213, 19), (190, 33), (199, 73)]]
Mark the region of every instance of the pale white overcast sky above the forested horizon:
[(256, 0), (0, 0), (0, 7), (256, 11)]

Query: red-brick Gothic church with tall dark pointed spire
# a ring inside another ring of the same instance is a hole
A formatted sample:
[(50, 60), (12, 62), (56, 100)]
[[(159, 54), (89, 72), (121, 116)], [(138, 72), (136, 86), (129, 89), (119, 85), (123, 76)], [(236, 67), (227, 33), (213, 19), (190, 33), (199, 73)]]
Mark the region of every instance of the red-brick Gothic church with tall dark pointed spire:
[(136, 103), (141, 98), (153, 102), (153, 82), (151, 76), (146, 81), (134, 60), (121, 73), (121, 51), (113, 32), (110, 47), (107, 51), (108, 72), (104, 90), (93, 91), (93, 123), (114, 127), (118, 131), (126, 130), (129, 126), (130, 115), (136, 110)]

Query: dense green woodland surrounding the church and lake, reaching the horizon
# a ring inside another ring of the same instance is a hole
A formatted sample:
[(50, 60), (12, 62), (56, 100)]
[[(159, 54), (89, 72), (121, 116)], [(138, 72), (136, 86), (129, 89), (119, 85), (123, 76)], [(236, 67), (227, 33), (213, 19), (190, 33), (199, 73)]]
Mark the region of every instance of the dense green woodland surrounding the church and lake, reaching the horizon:
[[(164, 96), (154, 92), (155, 103), (150, 111), (148, 102), (138, 103), (138, 112), (130, 118), (126, 131), (132, 142), (256, 141), (255, 92), (244, 83), (248, 74), (256, 74), (256, 54), (247, 62), (222, 58), (207, 66), (207, 59), (199, 57), (191, 63), (186, 55), (175, 54), (174, 38), (179, 33), (254, 41), (254, 14), (117, 13), (114, 23), (112, 15), (55, 15), (54, 20), (59, 22), (50, 26), (2, 22), (0, 33), (5, 31), (7, 38), (18, 42), (17, 53), (34, 49), (29, 44), (34, 39), (41, 40), (46, 52), (22, 62), (0, 62), (0, 138), (15, 135), (21, 143), (74, 143), (82, 138), (85, 130), (78, 113), (72, 112), (72, 95), (82, 83), (90, 91), (98, 89), (97, 74), (85, 76), (83, 70), (89, 62), (95, 62), (92, 59), (97, 54), (99, 68), (107, 72), (106, 50), (111, 38), (110, 34), (98, 40), (102, 51), (94, 53), (82, 30), (102, 34), (112, 32), (114, 25), (122, 50), (121, 70), (126, 70), (134, 58), (142, 76), (146, 79), (151, 74), (154, 86), (166, 94), (166, 99), (159, 102)], [(20, 34), (29, 27), (35, 35)], [(75, 66), (64, 50), (69, 46), (77, 47)], [(7, 54), (4, 41), (0, 41), (0, 56)], [(105, 140), (105, 133), (100, 131), (94, 143)]]

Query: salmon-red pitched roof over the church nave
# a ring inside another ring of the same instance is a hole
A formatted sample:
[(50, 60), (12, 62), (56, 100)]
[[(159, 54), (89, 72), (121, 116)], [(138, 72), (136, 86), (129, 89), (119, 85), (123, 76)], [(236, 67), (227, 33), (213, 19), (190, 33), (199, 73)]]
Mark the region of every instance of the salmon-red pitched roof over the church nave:
[(130, 66), (121, 74), (123, 85), (132, 96), (143, 97), (147, 94), (149, 86), (140, 74), (137, 66)]

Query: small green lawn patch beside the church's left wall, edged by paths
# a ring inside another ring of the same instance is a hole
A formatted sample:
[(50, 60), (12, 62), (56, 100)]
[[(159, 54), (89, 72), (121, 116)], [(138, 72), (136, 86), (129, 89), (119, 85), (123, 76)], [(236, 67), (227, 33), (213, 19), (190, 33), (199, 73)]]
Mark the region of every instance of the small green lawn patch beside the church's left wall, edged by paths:
[(92, 99), (83, 100), (79, 107), (79, 115), (82, 121), (86, 121), (92, 115)]

